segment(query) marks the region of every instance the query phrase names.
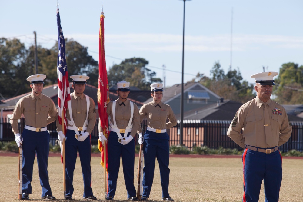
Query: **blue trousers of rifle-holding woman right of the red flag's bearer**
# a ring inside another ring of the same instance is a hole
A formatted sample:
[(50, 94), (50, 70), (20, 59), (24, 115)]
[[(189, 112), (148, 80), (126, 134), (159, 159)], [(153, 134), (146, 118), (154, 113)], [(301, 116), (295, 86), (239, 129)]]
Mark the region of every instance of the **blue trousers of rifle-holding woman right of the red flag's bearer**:
[(143, 168), (143, 194), (149, 197), (154, 180), (155, 161), (159, 163), (162, 197), (169, 197), (169, 137), (167, 133), (146, 131), (143, 142), (144, 168)]

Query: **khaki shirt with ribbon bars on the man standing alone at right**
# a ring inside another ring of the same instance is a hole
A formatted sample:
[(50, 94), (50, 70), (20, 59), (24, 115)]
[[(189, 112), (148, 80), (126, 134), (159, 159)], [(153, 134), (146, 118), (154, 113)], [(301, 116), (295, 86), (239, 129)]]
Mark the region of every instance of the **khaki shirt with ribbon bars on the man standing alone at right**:
[[(270, 126), (264, 125), (264, 105), (258, 97), (243, 104), (231, 122), (227, 135), (242, 148), (250, 145), (260, 148), (281, 146), (291, 136), (292, 126), (285, 109), (278, 103), (268, 100)], [(265, 127), (271, 127), (272, 138), (266, 143)], [(243, 129), (243, 134), (241, 130)]]

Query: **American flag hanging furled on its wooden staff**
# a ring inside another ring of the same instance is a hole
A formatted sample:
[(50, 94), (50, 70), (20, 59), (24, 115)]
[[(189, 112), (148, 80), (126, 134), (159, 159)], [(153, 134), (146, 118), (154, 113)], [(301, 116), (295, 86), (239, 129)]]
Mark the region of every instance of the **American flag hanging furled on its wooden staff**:
[[(58, 73), (58, 121), (62, 124), (62, 131), (66, 134), (67, 121), (66, 121), (66, 109), (67, 101), (71, 99), (69, 82), (68, 82), (68, 72), (66, 65), (66, 55), (65, 55), (65, 40), (62, 32), (61, 21), (59, 9), (57, 9), (57, 25), (58, 25), (58, 60), (57, 60), (57, 73)], [(64, 120), (64, 125), (62, 123)], [(64, 130), (63, 130), (64, 127)]]

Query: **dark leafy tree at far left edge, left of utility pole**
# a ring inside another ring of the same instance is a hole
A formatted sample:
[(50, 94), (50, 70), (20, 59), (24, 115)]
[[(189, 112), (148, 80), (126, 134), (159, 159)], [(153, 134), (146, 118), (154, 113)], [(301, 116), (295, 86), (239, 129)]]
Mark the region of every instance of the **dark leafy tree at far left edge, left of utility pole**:
[(31, 67), (27, 61), (28, 50), (18, 39), (0, 39), (0, 94), (2, 98), (10, 98), (30, 91), (29, 83)]

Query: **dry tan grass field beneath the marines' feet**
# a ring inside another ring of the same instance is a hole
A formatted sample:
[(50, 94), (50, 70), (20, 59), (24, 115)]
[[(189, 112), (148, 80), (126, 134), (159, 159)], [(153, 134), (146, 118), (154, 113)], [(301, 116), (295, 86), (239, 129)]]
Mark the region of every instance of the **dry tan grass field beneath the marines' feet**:
[[(135, 162), (138, 162), (136, 157)], [(105, 201), (104, 170), (100, 165), (100, 157), (92, 157), (92, 189), (97, 201)], [(137, 164), (135, 164), (135, 168)], [(242, 162), (237, 158), (170, 158), (171, 197), (177, 202), (241, 202), (243, 194)], [(0, 157), (0, 201), (18, 201), (18, 157)], [(127, 201), (126, 189), (122, 173), (122, 164), (118, 177), (118, 187), (114, 201)], [(136, 176), (137, 169), (135, 169)], [(283, 180), (280, 191), (280, 202), (303, 201), (303, 160), (283, 159)], [(49, 182), (56, 201), (65, 201), (63, 193), (63, 171), (60, 157), (48, 159)], [(137, 182), (135, 180), (135, 187)], [(87, 201), (82, 198), (83, 180), (80, 160), (74, 172), (74, 187), (72, 201)], [(38, 166), (35, 161), (32, 180), (31, 201), (41, 199), (41, 186), (38, 176)], [(161, 185), (158, 164), (155, 168), (154, 183), (148, 201), (161, 201)], [(264, 201), (263, 186), (259, 201)]]

